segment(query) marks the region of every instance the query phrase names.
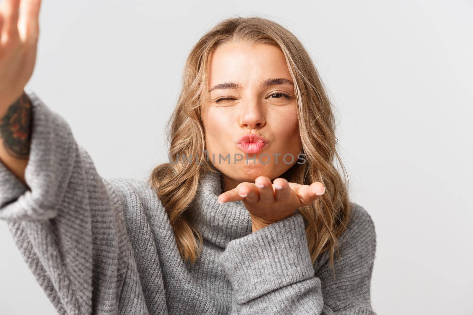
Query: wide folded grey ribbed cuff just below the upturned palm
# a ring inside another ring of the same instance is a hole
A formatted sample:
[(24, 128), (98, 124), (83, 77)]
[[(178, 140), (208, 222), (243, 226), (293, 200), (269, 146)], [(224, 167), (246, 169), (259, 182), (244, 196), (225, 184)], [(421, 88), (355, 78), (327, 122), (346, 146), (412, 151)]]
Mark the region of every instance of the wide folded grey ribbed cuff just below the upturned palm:
[(230, 241), (219, 257), (238, 304), (314, 276), (300, 213)]

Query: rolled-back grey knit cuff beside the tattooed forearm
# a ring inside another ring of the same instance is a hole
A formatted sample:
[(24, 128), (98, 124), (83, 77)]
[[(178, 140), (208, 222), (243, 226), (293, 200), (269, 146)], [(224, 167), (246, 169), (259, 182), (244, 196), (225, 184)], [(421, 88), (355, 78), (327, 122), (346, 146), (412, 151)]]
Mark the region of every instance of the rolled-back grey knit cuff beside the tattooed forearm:
[(26, 88), (31, 101), (31, 142), (26, 186), (0, 162), (0, 219), (44, 221), (57, 214), (75, 160), (77, 146), (69, 124)]

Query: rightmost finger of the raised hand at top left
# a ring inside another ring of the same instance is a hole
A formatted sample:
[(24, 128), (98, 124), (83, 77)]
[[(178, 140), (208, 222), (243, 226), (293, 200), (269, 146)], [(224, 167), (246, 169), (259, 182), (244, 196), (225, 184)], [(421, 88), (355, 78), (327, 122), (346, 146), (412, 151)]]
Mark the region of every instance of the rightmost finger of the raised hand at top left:
[(39, 36), (41, 0), (21, 0), (18, 32), (24, 42), (36, 43)]

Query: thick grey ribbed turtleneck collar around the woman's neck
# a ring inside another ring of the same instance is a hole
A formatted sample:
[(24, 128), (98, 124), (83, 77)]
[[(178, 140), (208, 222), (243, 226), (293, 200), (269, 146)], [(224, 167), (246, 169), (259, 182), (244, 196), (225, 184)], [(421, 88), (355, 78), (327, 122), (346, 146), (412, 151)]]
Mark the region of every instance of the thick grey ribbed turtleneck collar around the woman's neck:
[(251, 218), (242, 201), (219, 204), (222, 192), (220, 172), (203, 173), (195, 196), (194, 222), (202, 237), (221, 248), (236, 238), (252, 233)]

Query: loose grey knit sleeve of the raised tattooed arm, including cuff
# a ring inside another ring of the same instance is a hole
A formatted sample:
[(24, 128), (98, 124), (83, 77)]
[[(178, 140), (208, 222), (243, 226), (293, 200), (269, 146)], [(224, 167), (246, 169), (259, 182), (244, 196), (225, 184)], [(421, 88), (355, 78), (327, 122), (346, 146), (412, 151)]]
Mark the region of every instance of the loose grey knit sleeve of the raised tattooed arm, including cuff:
[(117, 314), (127, 267), (119, 198), (68, 123), (25, 92), (33, 111), (27, 186), (0, 162), (0, 219), (59, 314)]

